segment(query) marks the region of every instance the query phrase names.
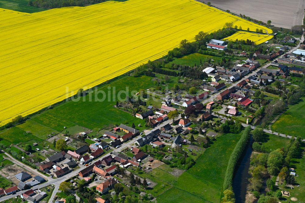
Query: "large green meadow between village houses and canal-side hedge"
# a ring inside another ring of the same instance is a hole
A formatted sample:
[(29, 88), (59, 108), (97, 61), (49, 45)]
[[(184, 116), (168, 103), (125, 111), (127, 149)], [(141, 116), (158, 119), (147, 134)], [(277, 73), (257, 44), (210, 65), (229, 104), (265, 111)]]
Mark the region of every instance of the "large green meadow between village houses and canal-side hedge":
[[(177, 197), (179, 191), (179, 195), (188, 197), (188, 202), (219, 202), (228, 160), (240, 136), (241, 134), (224, 134), (218, 137), (214, 144), (199, 156), (192, 168), (177, 179), (166, 177), (164, 181), (173, 183), (174, 187), (160, 195), (157, 201), (169, 202)], [(164, 171), (163, 168), (160, 169)], [(183, 198), (174, 202), (183, 202)]]

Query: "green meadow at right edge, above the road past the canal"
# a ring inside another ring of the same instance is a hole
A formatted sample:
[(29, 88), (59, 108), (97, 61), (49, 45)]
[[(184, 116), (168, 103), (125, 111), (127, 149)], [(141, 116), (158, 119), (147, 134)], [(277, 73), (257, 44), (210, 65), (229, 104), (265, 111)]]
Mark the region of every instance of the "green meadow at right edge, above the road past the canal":
[(285, 111), (271, 126), (271, 130), (283, 134), (301, 136), (305, 138), (305, 97), (302, 97), (295, 105), (289, 105)]

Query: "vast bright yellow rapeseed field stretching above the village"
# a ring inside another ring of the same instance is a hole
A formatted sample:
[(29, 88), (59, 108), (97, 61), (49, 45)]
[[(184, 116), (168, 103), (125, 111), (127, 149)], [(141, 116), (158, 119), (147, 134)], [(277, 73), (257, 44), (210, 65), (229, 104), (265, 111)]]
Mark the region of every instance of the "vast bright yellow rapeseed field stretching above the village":
[(0, 9), (0, 124), (94, 87), (233, 22), (266, 27), (193, 0), (129, 0), (37, 13)]

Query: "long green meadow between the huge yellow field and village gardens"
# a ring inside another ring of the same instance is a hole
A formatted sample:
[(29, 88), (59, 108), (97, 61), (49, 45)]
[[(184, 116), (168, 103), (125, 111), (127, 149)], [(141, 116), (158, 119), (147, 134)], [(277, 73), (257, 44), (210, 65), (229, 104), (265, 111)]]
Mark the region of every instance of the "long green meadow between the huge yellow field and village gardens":
[[(88, 94), (85, 101), (81, 99), (78, 102), (66, 102), (54, 109), (50, 109), (48, 113), (39, 115), (34, 119), (35, 121), (40, 120), (40, 122), (44, 122), (47, 126), (51, 125), (52, 128), (59, 131), (63, 130), (63, 126), (72, 127), (75, 126), (75, 124), (89, 129), (96, 127), (105, 128), (109, 125), (120, 123), (124, 123), (126, 125), (135, 123), (136, 126), (141, 123), (141, 125), (145, 127), (145, 120), (135, 118), (127, 112), (113, 108), (113, 105), (115, 105), (116, 101), (118, 100), (117, 94), (119, 91), (128, 90), (130, 95), (131, 91), (147, 89), (153, 85), (151, 79), (151, 77), (147, 76), (120, 78), (111, 84), (104, 84), (98, 89), (98, 91)], [(112, 87), (111, 91), (109, 91), (107, 87)], [(113, 94), (114, 87), (115, 93)], [(108, 96), (104, 101), (95, 101), (95, 97), (102, 99), (102, 94), (99, 93), (101, 91), (104, 91)], [(90, 95), (92, 95), (92, 101), (89, 100)], [(126, 94), (123, 93), (121, 95), (119, 94), (118, 96), (124, 98)], [(65, 121), (66, 123), (64, 123)], [(140, 130), (143, 130), (144, 127), (140, 127)]]

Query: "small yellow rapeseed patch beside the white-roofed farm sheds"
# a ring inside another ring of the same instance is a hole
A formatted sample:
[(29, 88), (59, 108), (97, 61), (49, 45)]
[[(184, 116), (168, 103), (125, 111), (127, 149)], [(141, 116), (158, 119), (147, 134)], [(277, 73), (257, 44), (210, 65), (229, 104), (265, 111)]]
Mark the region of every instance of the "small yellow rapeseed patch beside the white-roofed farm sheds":
[(249, 33), (249, 32), (243, 32), (238, 31), (234, 34), (232, 34), (229, 37), (224, 38), (223, 40), (228, 41), (235, 41), (235, 40), (251, 40), (254, 41), (255, 44), (259, 45), (261, 43), (264, 43), (265, 41), (271, 40), (273, 38), (272, 35), (268, 34), (255, 34), (255, 33)]

